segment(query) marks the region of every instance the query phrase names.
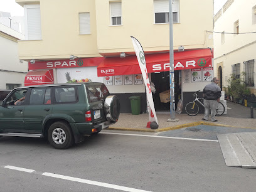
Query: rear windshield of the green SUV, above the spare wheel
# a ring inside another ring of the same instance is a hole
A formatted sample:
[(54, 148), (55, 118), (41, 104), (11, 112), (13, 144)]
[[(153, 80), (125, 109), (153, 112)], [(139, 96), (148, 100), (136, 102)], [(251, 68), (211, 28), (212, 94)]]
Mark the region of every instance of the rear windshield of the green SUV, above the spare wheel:
[(110, 95), (109, 90), (104, 85), (104, 83), (86, 83), (88, 102), (97, 102), (99, 100), (104, 100)]

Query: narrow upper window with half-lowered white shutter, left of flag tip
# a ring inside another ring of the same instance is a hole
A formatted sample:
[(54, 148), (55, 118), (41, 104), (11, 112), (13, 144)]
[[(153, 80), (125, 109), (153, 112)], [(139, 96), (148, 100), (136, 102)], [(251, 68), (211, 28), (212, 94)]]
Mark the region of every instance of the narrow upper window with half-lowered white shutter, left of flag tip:
[(122, 24), (122, 3), (110, 3), (111, 25)]

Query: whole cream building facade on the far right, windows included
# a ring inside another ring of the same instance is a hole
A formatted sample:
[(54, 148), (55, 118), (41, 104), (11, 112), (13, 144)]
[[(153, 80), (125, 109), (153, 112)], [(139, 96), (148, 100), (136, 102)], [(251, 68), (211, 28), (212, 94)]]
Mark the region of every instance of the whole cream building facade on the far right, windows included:
[(220, 87), (227, 87), (232, 73), (256, 94), (256, 0), (228, 0), (215, 15), (213, 35), (214, 74)]

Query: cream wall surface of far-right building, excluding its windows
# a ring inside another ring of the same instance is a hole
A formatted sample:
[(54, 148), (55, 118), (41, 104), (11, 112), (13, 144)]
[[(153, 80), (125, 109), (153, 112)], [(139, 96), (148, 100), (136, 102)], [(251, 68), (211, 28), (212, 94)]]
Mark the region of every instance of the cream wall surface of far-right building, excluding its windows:
[[(256, 31), (256, 14), (253, 14), (256, 7), (256, 0), (246, 1), (235, 0), (233, 4), (223, 13), (215, 23), (214, 31), (234, 33), (234, 23), (239, 21), (239, 33)], [(223, 63), (223, 86), (227, 86), (227, 80), (232, 73), (232, 65), (240, 63), (240, 73), (243, 72), (243, 62), (248, 60), (256, 61), (256, 33), (249, 34), (225, 34), (225, 43), (221, 45), (221, 34), (214, 33), (214, 56), (215, 68)], [(215, 70), (215, 76), (218, 70)], [(254, 82), (256, 83), (256, 62), (254, 63)], [(255, 91), (255, 86), (252, 87)]]

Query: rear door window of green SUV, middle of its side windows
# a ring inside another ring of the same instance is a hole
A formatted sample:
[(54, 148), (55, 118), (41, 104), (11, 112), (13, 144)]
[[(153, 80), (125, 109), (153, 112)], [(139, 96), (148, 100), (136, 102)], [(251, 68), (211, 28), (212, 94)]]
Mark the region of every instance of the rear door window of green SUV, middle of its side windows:
[(51, 89), (50, 88), (32, 88), (30, 97), (30, 105), (51, 104)]

